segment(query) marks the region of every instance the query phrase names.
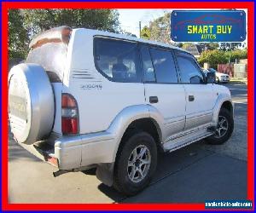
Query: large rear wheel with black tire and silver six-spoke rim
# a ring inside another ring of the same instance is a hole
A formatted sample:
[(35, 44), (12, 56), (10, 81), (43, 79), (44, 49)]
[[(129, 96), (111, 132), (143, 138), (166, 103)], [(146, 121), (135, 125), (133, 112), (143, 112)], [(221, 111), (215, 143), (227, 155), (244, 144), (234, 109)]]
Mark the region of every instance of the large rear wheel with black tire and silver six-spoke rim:
[[(143, 131), (131, 132), (125, 136), (120, 146), (114, 166), (113, 187), (126, 196), (135, 195), (148, 186), (154, 175), (157, 165), (157, 146), (154, 138)], [(134, 161), (136, 153), (139, 155), (144, 151), (142, 158), (137, 156), (138, 159)], [(150, 163), (143, 164), (143, 162)]]

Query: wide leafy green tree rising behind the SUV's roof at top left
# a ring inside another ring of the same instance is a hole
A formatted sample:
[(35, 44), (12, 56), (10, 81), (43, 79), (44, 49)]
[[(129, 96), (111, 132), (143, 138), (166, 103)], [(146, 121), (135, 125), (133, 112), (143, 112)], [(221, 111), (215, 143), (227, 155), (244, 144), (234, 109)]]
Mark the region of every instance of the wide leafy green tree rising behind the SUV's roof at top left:
[(22, 12), (26, 26), (33, 33), (55, 26), (119, 32), (119, 14), (114, 9), (23, 9)]

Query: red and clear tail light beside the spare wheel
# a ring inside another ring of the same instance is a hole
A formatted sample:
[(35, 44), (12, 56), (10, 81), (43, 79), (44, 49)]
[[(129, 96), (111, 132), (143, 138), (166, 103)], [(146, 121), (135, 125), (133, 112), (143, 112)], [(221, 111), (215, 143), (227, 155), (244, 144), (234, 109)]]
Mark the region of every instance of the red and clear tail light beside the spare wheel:
[(61, 97), (61, 129), (63, 135), (79, 133), (79, 108), (72, 95), (62, 94)]

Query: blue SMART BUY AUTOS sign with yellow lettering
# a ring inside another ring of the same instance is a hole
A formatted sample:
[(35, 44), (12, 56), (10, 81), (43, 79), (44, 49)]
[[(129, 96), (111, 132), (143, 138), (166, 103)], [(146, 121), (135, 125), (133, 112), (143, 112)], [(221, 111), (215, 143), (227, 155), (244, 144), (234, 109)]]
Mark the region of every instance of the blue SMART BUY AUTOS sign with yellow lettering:
[(173, 10), (174, 42), (242, 42), (246, 39), (243, 10)]

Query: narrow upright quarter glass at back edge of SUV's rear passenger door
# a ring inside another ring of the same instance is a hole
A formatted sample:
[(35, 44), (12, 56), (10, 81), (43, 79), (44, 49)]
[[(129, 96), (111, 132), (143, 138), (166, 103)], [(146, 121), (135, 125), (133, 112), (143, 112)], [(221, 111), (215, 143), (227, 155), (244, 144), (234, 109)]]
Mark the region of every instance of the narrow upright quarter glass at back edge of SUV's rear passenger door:
[(148, 51), (148, 47), (141, 48), (142, 60), (143, 60), (143, 73), (145, 82), (155, 82), (154, 67)]

